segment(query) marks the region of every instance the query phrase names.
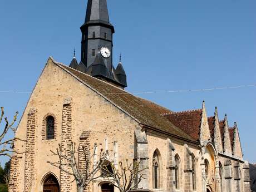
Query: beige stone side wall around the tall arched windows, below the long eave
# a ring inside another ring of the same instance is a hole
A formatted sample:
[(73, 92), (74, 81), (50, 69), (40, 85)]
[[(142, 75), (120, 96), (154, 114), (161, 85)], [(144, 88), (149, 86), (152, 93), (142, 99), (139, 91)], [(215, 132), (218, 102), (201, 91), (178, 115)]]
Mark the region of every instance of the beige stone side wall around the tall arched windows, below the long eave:
[[(181, 165), (181, 173), (179, 180), (179, 189), (176, 191), (192, 191), (192, 178), (190, 169), (191, 169), (191, 159), (188, 159), (186, 156), (187, 146), (184, 145), (184, 141), (179, 139), (171, 138), (171, 144), (174, 147), (174, 150), (170, 151), (168, 137), (166, 135), (157, 134), (156, 132), (147, 132), (147, 141), (149, 145), (149, 189), (153, 189), (152, 183), (152, 156), (155, 150), (160, 152), (160, 190), (161, 191), (175, 191), (175, 164), (174, 156), (178, 155)], [(198, 156), (200, 150), (196, 149), (196, 145), (189, 145), (189, 150), (192, 156)], [(189, 166), (189, 168), (188, 168)], [(201, 172), (200, 172), (200, 163), (196, 161), (196, 189), (201, 189)]]

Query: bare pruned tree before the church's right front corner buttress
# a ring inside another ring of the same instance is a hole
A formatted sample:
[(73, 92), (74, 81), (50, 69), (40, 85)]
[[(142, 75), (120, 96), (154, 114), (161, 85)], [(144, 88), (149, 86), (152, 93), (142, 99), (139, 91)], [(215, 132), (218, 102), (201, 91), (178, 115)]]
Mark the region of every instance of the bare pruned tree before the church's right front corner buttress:
[(141, 161), (129, 164), (126, 159), (126, 165), (119, 162), (119, 169), (116, 169), (114, 161), (104, 165), (105, 176), (109, 178), (111, 183), (120, 190), (120, 192), (129, 192), (138, 189), (137, 186), (142, 179), (146, 179), (144, 170), (140, 169)]

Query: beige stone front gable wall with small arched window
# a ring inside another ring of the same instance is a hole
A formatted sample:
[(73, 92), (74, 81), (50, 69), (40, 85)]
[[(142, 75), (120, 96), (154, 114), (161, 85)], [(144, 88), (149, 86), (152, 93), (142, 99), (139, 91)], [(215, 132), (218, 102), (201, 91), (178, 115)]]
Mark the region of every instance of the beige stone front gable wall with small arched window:
[[(72, 99), (69, 106), (66, 104), (68, 98)], [(32, 108), (36, 110), (36, 116), (28, 115)], [(57, 122), (56, 138), (53, 140), (44, 140), (42, 134), (43, 119), (48, 113), (54, 114)], [(65, 144), (71, 139), (78, 144), (83, 131), (92, 132), (91, 151), (94, 143), (97, 143), (99, 149), (108, 149), (110, 158), (113, 158), (114, 143), (116, 142), (120, 151), (118, 160), (129, 159), (132, 162), (136, 126), (137, 123), (132, 121), (129, 116), (124, 115), (117, 107), (50, 61), (38, 80), (18, 125), (16, 136), (27, 139), (27, 143), (26, 145), (17, 145), (17, 150), (29, 149), (29, 154), (21, 155), (21, 158), (25, 159), (25, 163), (20, 164), (19, 173), (14, 174), (13, 166), (12, 182), (17, 180), (18, 175), (24, 174), (26, 181), (19, 186), (14, 184), (15, 187), (13, 185), (11, 191), (42, 192), (42, 179), (48, 173), (56, 175), (58, 181), (62, 183), (60, 170), (47, 164), (47, 161), (58, 161), (58, 157), (51, 155), (50, 149), (55, 150), (58, 144), (61, 142)], [(71, 131), (72, 137), (66, 135), (63, 138), (65, 131)], [(13, 163), (16, 163), (16, 160), (13, 160)], [(18, 163), (16, 164), (18, 165)], [(71, 186), (67, 186), (67, 189), (61, 191), (75, 192), (75, 182)], [(93, 190), (97, 191), (98, 189)]]

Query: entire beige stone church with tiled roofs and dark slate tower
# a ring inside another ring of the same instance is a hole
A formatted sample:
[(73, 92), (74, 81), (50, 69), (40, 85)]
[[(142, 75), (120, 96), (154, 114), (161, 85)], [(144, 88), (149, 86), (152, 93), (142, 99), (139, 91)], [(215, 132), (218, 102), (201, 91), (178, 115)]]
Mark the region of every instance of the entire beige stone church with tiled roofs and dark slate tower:
[[(9, 192), (76, 192), (72, 176), (48, 164), (50, 150), (73, 141), (109, 160), (141, 161), (146, 175), (135, 191), (249, 192), (249, 164), (237, 123), (218, 109), (176, 112), (124, 90), (126, 73), (113, 63), (114, 26), (106, 0), (88, 0), (81, 26), (81, 61), (52, 57), (43, 68), (18, 125)], [(81, 152), (81, 150), (78, 150)], [(78, 166), (82, 166), (78, 152)], [(118, 169), (118, 166), (117, 166)], [(101, 177), (86, 192), (118, 192)]]

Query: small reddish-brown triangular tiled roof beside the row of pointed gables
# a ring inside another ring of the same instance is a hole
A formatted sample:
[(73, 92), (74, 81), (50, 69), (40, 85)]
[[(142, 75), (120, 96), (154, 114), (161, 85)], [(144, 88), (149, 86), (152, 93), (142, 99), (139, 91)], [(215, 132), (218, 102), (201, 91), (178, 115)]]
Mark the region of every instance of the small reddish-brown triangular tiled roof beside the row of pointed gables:
[(186, 132), (186, 134), (198, 141), (202, 114), (203, 110), (199, 109), (193, 111), (172, 112), (164, 116), (176, 127), (179, 127)]

